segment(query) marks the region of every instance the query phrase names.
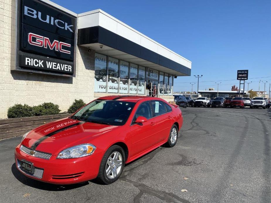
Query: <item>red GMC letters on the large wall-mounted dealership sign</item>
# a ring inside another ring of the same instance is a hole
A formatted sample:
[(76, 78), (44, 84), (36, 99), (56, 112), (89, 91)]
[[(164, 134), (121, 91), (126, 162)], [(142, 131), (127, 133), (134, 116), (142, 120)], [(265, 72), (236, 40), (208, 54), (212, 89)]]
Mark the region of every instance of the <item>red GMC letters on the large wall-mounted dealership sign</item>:
[(44, 37), (41, 35), (37, 35), (34, 33), (28, 33), (28, 43), (36, 46), (36, 47), (43, 47), (44, 49), (51, 49), (54, 51), (60, 51), (65, 54), (71, 54), (71, 51), (65, 49), (65, 47), (71, 47), (71, 44), (65, 42), (59, 42), (58, 40), (54, 40), (52, 43), (48, 37)]

